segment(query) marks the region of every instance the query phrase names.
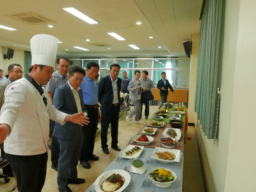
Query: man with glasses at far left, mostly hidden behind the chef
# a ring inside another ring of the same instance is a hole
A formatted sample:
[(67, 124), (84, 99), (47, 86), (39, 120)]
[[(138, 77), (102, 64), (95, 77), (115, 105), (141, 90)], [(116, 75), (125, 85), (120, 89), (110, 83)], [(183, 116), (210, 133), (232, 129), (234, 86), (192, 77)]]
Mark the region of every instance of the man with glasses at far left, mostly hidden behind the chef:
[[(4, 90), (12, 82), (21, 79), (24, 72), (22, 72), (22, 67), (20, 64), (11, 64), (8, 66), (8, 79), (0, 83), (0, 109), (4, 104)], [(1, 149), (1, 155), (4, 156), (4, 148)], [(3, 169), (3, 173), (7, 174), (9, 177), (14, 177), (12, 168), (8, 164)]]

